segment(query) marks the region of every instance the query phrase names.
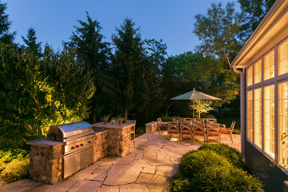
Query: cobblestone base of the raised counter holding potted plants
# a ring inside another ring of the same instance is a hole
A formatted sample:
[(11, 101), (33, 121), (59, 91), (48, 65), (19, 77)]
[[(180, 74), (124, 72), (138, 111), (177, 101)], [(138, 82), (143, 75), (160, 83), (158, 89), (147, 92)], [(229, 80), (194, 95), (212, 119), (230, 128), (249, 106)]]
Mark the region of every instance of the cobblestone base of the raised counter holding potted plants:
[[(104, 129), (99, 128), (97, 129)], [(108, 128), (108, 145), (107, 152), (109, 156), (125, 157), (130, 153), (129, 146), (131, 144), (130, 127), (124, 129)]]

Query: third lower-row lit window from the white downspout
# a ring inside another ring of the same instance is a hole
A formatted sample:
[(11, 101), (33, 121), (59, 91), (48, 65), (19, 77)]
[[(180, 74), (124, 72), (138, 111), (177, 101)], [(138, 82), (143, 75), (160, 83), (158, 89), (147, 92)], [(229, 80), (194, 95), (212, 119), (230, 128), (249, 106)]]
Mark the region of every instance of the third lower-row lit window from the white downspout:
[(275, 157), (274, 85), (264, 87), (264, 151)]

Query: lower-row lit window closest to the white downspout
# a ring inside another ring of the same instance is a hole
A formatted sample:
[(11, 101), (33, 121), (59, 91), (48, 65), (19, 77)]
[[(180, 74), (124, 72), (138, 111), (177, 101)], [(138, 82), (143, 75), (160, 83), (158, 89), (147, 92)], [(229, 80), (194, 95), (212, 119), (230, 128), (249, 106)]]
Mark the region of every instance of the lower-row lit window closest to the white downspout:
[(252, 141), (253, 136), (253, 95), (247, 91), (247, 138)]

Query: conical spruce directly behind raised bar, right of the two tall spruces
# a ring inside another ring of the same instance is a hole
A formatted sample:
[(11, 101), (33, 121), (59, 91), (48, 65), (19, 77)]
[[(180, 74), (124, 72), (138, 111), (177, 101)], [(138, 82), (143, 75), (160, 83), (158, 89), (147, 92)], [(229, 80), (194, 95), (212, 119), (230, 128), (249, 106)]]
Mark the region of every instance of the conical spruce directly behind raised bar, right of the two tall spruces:
[(106, 91), (114, 109), (124, 112), (125, 122), (129, 113), (152, 110), (157, 96), (153, 84), (157, 81), (158, 66), (145, 54), (145, 40), (141, 39), (140, 29), (134, 26), (131, 18), (125, 18), (120, 28), (116, 27), (117, 34), (111, 36), (115, 47), (112, 69), (115, 81), (114, 89)]

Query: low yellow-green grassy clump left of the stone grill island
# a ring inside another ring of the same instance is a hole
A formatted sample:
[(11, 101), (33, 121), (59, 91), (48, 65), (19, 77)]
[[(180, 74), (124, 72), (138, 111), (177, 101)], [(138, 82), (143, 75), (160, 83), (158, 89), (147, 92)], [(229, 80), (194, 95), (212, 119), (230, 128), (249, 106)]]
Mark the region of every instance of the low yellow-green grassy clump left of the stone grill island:
[(2, 163), (0, 169), (1, 179), (8, 182), (13, 182), (15, 180), (24, 179), (28, 177), (29, 173), (29, 160), (13, 159), (10, 163)]

